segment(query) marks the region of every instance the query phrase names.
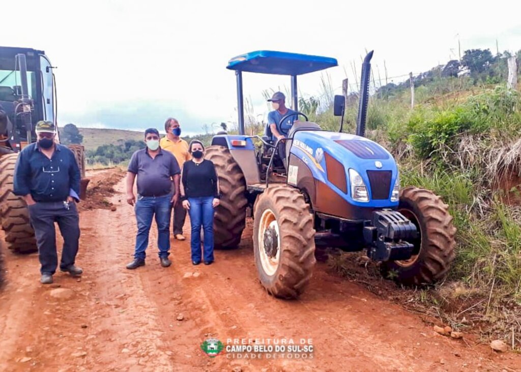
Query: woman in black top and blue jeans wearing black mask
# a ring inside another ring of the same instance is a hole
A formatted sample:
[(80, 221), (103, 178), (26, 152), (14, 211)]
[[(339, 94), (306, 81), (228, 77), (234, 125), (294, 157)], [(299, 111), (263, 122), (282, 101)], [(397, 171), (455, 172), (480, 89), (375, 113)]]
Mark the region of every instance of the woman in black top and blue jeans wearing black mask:
[(192, 160), (183, 165), (181, 197), (190, 214), (192, 264), (201, 263), (201, 227), (204, 230), (204, 264), (214, 262), (214, 208), (219, 205), (219, 179), (214, 163), (204, 159), (204, 146), (198, 140), (190, 143)]

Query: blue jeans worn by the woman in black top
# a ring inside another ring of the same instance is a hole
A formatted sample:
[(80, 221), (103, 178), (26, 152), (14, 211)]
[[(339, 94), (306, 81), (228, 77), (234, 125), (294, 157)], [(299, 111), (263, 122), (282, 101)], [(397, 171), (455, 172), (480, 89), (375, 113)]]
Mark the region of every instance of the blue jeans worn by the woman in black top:
[(201, 261), (201, 227), (204, 230), (204, 261), (214, 261), (214, 208), (213, 196), (188, 198), (190, 203), (190, 222), (192, 223), (192, 236), (190, 247), (192, 249), (192, 261)]

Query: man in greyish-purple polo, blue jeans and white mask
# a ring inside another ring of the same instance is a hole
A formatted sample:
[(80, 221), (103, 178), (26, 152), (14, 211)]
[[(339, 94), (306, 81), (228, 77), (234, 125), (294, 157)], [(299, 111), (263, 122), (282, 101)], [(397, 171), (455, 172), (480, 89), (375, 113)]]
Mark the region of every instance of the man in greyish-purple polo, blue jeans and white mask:
[[(134, 206), (138, 222), (135, 239), (134, 260), (127, 265), (129, 270), (145, 264), (148, 234), (155, 215), (157, 224), (157, 248), (163, 267), (171, 265), (170, 215), (172, 205), (179, 200), (179, 164), (168, 151), (159, 147), (159, 132), (155, 128), (145, 131), (146, 148), (133, 153), (127, 172), (127, 202)], [(134, 179), (138, 176), (138, 197), (133, 191)]]

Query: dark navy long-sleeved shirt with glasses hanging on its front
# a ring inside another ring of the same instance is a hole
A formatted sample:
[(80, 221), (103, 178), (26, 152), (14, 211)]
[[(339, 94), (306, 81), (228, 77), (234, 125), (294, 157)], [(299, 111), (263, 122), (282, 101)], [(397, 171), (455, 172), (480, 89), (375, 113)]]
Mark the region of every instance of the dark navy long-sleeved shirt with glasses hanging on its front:
[(80, 194), (80, 169), (71, 150), (55, 145), (51, 159), (47, 158), (36, 143), (20, 151), (15, 166), (14, 193), (31, 194), (34, 201), (62, 201), (70, 195), (70, 189)]

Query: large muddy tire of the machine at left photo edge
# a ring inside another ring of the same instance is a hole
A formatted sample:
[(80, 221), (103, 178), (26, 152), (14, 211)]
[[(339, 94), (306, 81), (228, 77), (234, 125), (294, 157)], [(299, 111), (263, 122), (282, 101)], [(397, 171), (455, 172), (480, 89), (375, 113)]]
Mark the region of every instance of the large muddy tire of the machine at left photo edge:
[(13, 194), (17, 158), (17, 153), (9, 153), (0, 158), (0, 221), (5, 231), (7, 248), (19, 253), (31, 253), (38, 248), (29, 222), (29, 210), (26, 202)]

